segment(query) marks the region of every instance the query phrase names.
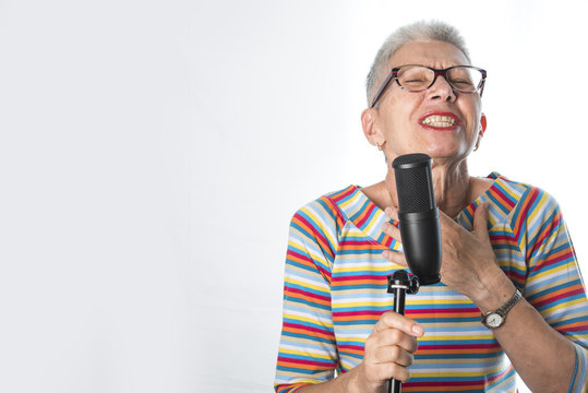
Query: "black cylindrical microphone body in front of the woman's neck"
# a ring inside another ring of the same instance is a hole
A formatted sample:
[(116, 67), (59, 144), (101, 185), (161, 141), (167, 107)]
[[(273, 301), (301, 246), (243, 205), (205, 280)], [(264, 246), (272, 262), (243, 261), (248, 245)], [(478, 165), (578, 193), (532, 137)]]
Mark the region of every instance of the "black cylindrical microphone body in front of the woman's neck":
[(441, 281), (441, 229), (431, 162), (427, 154), (406, 154), (392, 163), (403, 249), (408, 267), (420, 285)]

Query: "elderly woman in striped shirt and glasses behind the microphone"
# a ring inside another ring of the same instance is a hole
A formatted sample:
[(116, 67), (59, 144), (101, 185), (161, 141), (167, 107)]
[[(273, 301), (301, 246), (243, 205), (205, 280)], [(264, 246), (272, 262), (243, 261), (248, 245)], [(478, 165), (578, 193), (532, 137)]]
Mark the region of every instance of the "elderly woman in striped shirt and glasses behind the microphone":
[(385, 392), (391, 378), (406, 392), (516, 392), (515, 371), (533, 392), (587, 391), (588, 301), (556, 202), (468, 172), (484, 82), (445, 24), (384, 43), (363, 132), (386, 163), (433, 158), (442, 282), (408, 296), (406, 317), (389, 311), (386, 276), (407, 266), (389, 166), (376, 184), (309, 203), (290, 225), (276, 392)]

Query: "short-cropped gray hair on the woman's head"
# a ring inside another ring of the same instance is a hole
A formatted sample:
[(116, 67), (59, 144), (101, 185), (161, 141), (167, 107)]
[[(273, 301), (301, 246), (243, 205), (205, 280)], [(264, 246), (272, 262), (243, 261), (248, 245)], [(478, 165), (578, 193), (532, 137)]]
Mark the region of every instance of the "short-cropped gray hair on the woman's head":
[(448, 43), (461, 50), (468, 62), (471, 63), (466, 40), (457, 28), (441, 21), (421, 21), (406, 26), (403, 26), (392, 33), (384, 41), (375, 59), (373, 61), (370, 73), (365, 81), (365, 91), (368, 95), (368, 105), (371, 104), (375, 90), (379, 87), (376, 83), (382, 83), (385, 75), (389, 72), (389, 59), (403, 45), (418, 39), (430, 39)]

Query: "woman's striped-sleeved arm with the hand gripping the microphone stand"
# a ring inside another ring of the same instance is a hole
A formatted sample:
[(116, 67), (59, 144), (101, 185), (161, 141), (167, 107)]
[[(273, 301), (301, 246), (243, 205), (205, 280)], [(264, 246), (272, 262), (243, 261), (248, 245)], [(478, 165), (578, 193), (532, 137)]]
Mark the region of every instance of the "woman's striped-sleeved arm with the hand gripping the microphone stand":
[(361, 364), (334, 377), (338, 366), (331, 314), (331, 270), (336, 217), (321, 204), (300, 210), (290, 224), (284, 286), (284, 322), (275, 389), (278, 393), (387, 392), (391, 378), (407, 381), (417, 322), (385, 312), (365, 342)]

